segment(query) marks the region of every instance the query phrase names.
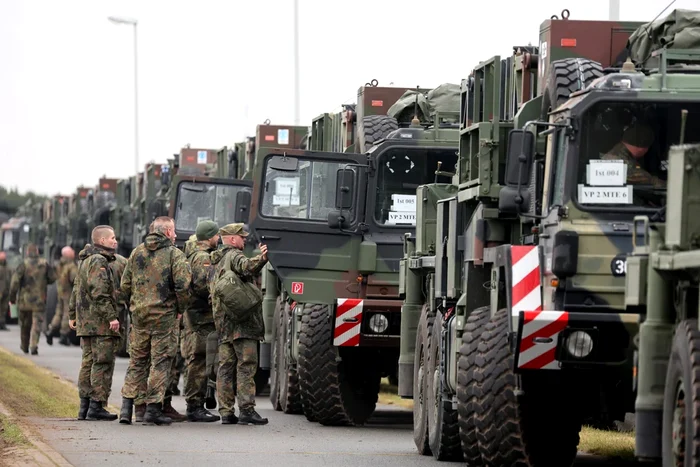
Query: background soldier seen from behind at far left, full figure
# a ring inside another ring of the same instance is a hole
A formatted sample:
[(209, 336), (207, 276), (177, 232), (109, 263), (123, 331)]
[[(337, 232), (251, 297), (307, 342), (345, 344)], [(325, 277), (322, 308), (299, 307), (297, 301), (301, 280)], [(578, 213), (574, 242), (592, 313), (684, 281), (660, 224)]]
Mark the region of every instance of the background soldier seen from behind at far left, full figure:
[(33, 243), (27, 245), (27, 257), (17, 266), (10, 284), (10, 303), (19, 306), (20, 348), (24, 353), (29, 353), (31, 348), (32, 355), (39, 354), (46, 287), (55, 281), (56, 271), (45, 259), (39, 258), (39, 248)]

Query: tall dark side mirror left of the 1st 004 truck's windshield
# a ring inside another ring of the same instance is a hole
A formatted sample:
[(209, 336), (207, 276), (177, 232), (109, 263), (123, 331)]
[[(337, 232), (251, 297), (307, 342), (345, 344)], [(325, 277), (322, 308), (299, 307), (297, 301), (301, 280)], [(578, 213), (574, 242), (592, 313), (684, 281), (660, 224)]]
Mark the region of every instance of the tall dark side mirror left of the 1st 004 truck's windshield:
[[(535, 155), (535, 135), (529, 131), (511, 130), (508, 134), (506, 186), (498, 197), (498, 209), (507, 213), (529, 211), (528, 190)], [(526, 208), (527, 206), (527, 208)]]

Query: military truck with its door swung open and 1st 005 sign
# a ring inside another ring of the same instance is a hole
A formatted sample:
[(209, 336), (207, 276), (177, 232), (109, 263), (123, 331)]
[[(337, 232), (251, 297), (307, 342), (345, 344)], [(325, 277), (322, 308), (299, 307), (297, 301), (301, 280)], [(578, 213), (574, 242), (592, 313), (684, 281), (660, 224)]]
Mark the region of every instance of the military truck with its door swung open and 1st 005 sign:
[(263, 312), (278, 410), (360, 425), (380, 379), (396, 375), (402, 234), (414, 229), (416, 188), (456, 162), (454, 88), (373, 81), (357, 105), (314, 120), (310, 150), (258, 151), (251, 227), (269, 248)]

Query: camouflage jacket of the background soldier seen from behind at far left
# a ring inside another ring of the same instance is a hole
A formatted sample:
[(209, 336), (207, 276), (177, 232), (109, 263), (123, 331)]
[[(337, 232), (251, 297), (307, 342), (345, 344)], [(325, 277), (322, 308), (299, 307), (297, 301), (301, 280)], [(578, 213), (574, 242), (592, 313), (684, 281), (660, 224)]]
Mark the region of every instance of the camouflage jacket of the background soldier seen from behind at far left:
[(30, 254), (12, 275), (10, 301), (20, 310), (44, 311), (46, 287), (56, 281), (56, 270), (37, 254)]

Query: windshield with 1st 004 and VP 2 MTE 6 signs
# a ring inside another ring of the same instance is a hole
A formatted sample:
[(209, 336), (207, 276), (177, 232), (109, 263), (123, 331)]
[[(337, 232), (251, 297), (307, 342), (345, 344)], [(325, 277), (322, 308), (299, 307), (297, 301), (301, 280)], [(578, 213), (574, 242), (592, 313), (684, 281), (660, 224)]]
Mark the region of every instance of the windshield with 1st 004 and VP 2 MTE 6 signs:
[(580, 205), (659, 208), (666, 204), (668, 150), (678, 144), (681, 110), (685, 143), (700, 140), (700, 104), (599, 103), (581, 123), (577, 176)]

